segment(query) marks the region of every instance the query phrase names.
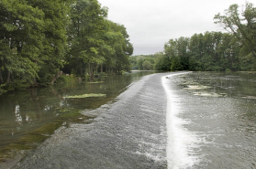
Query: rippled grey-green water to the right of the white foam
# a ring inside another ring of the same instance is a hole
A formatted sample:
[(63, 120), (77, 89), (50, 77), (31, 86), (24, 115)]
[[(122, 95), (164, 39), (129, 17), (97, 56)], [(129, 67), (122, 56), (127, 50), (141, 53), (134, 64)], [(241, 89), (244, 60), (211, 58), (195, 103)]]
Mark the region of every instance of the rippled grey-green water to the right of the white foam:
[[(216, 73), (214, 76), (211, 73), (191, 73), (182, 79), (192, 80), (191, 83), (197, 83), (196, 85), (212, 85), (212, 87), (217, 82), (217, 88), (207, 88), (197, 92), (227, 93), (225, 97), (194, 96), (189, 90), (183, 90), (182, 80), (179, 80), (181, 77), (176, 77), (176, 81), (180, 81), (177, 83), (176, 94), (185, 98), (183, 102), (186, 105), (180, 118), (191, 120), (184, 127), (190, 132), (195, 132), (199, 140), (198, 153), (203, 155), (203, 158), (199, 155), (201, 162), (194, 167), (255, 168), (256, 102), (251, 99), (253, 97), (241, 97), (248, 91), (250, 95), (253, 93), (256, 95), (255, 91), (250, 89), (255, 85), (255, 82), (252, 82), (255, 80), (242, 81), (244, 77), (222, 78), (222, 76), (221, 73)], [(248, 81), (254, 85), (249, 85)], [(186, 81), (186, 85), (189, 83)]]

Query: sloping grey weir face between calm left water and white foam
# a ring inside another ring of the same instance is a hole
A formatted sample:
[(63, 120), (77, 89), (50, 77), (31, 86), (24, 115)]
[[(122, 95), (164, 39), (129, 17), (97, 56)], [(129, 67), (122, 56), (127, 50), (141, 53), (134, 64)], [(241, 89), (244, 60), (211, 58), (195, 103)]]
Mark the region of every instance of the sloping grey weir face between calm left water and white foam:
[(134, 82), (91, 111), (91, 123), (62, 127), (17, 168), (166, 168), (166, 98), (161, 76)]

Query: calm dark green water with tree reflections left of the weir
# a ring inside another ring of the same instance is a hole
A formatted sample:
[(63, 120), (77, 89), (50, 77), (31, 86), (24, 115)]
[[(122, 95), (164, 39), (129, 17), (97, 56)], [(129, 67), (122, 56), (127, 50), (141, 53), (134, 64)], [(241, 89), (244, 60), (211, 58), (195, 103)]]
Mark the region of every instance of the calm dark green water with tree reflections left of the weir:
[[(72, 85), (9, 92), (0, 96), (0, 149), (24, 140), (24, 136), (31, 133), (47, 135), (50, 133), (47, 131), (51, 130), (47, 125), (49, 122), (63, 123), (71, 119), (73, 112), (95, 109), (116, 98), (133, 81), (150, 73), (153, 72), (137, 71), (123, 76), (95, 79), (100, 83), (82, 81)], [(63, 99), (64, 96), (86, 93), (103, 93), (106, 97)], [(44, 132), (41, 132), (42, 126), (46, 126)], [(26, 141), (29, 139), (26, 137)]]

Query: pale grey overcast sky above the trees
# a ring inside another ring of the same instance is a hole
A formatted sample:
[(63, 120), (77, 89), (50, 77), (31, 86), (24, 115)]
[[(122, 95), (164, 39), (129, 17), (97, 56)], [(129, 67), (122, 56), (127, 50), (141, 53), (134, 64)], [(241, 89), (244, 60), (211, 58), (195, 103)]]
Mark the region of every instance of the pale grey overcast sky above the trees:
[(109, 20), (127, 27), (134, 55), (162, 51), (164, 43), (171, 38), (222, 31), (221, 27), (214, 24), (214, 16), (223, 14), (229, 5), (245, 5), (245, 0), (98, 1), (108, 7)]

